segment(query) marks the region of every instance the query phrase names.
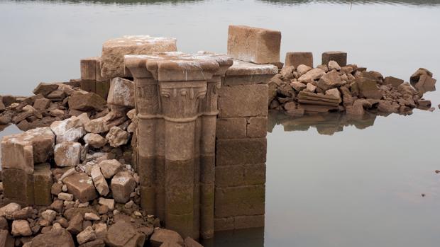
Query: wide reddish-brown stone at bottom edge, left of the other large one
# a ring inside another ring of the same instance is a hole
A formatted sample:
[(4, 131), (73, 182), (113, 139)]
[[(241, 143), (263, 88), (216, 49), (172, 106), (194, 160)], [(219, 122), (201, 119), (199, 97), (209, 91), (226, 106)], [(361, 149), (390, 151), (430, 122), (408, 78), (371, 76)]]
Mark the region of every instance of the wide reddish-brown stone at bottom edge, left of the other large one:
[(75, 247), (72, 235), (65, 229), (54, 229), (32, 239), (31, 247)]

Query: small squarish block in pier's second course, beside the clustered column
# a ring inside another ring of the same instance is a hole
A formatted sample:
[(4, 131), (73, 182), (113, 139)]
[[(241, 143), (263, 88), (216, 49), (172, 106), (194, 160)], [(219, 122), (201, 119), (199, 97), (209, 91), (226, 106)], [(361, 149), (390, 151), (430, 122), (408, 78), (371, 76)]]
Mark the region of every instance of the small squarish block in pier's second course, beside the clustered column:
[(247, 122), (244, 117), (217, 118), (218, 139), (245, 138)]

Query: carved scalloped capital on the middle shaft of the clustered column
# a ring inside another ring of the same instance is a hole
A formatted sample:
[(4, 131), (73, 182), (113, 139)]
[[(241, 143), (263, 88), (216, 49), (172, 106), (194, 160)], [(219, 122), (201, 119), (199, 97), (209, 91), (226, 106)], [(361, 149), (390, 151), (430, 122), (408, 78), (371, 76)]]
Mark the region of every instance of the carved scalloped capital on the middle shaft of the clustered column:
[(162, 114), (168, 120), (192, 121), (199, 115), (199, 105), (207, 95), (206, 81), (160, 82)]

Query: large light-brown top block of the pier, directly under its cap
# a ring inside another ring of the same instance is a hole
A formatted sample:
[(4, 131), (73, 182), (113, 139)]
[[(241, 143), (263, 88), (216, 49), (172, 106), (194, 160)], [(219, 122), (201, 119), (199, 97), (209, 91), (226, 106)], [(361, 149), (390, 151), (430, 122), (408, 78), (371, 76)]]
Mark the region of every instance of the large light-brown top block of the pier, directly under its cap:
[(222, 86), (219, 90), (219, 117), (268, 115), (268, 85)]

